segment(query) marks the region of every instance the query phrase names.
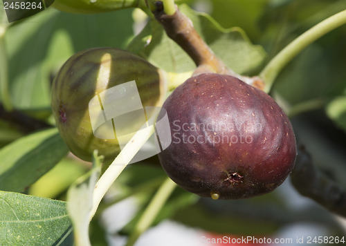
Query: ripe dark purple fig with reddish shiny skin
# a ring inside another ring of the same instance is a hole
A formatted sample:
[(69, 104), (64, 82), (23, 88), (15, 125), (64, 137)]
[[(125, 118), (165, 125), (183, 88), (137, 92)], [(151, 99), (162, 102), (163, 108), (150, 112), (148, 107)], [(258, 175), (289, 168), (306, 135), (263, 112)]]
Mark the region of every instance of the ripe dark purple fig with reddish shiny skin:
[(191, 77), (163, 108), (172, 144), (158, 158), (183, 189), (213, 199), (250, 198), (273, 191), (293, 169), (289, 118), (269, 95), (235, 77)]

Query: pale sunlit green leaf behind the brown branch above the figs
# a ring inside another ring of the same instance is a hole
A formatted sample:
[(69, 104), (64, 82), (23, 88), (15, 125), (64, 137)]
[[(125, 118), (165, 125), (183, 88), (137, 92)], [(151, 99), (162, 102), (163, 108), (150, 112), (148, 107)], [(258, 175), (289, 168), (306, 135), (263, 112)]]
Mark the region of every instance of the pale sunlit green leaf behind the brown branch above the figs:
[[(242, 29), (224, 29), (206, 14), (194, 12), (186, 5), (179, 8), (191, 19), (194, 28), (215, 54), (236, 73), (253, 73), (262, 65), (266, 57), (263, 48), (251, 44)], [(168, 73), (186, 73), (188, 76), (187, 72), (195, 68), (192, 59), (165, 35), (161, 24), (155, 20), (147, 23), (127, 49), (147, 58)]]

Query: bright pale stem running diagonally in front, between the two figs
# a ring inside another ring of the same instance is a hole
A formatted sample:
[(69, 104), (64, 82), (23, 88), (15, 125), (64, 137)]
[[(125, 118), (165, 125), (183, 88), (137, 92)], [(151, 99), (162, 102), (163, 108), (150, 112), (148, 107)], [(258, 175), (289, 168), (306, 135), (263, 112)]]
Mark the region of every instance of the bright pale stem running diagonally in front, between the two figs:
[(120, 151), (116, 159), (113, 160), (108, 169), (104, 171), (93, 190), (93, 207), (91, 209), (90, 220), (95, 215), (98, 205), (100, 205), (100, 202), (109, 187), (111, 187), (127, 164), (129, 164), (131, 159), (134, 158), (134, 155), (136, 155), (153, 133), (154, 128), (149, 128), (149, 131), (136, 132), (129, 142), (127, 142), (122, 151)]

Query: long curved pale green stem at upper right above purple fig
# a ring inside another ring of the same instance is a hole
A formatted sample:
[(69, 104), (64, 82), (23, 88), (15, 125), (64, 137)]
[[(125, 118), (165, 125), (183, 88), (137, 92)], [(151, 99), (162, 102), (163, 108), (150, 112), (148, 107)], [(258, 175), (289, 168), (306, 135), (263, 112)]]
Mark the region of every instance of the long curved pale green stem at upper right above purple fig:
[(346, 10), (338, 12), (335, 15), (321, 21), (316, 26), (313, 26), (302, 35), (294, 39), (288, 46), (280, 51), (260, 73), (260, 78), (264, 80), (266, 88), (264, 91), (269, 93), (273, 82), (282, 68), (291, 61), (295, 56), (300, 53), (304, 48), (309, 46), (323, 35), (327, 34), (331, 30), (338, 28), (346, 23)]

